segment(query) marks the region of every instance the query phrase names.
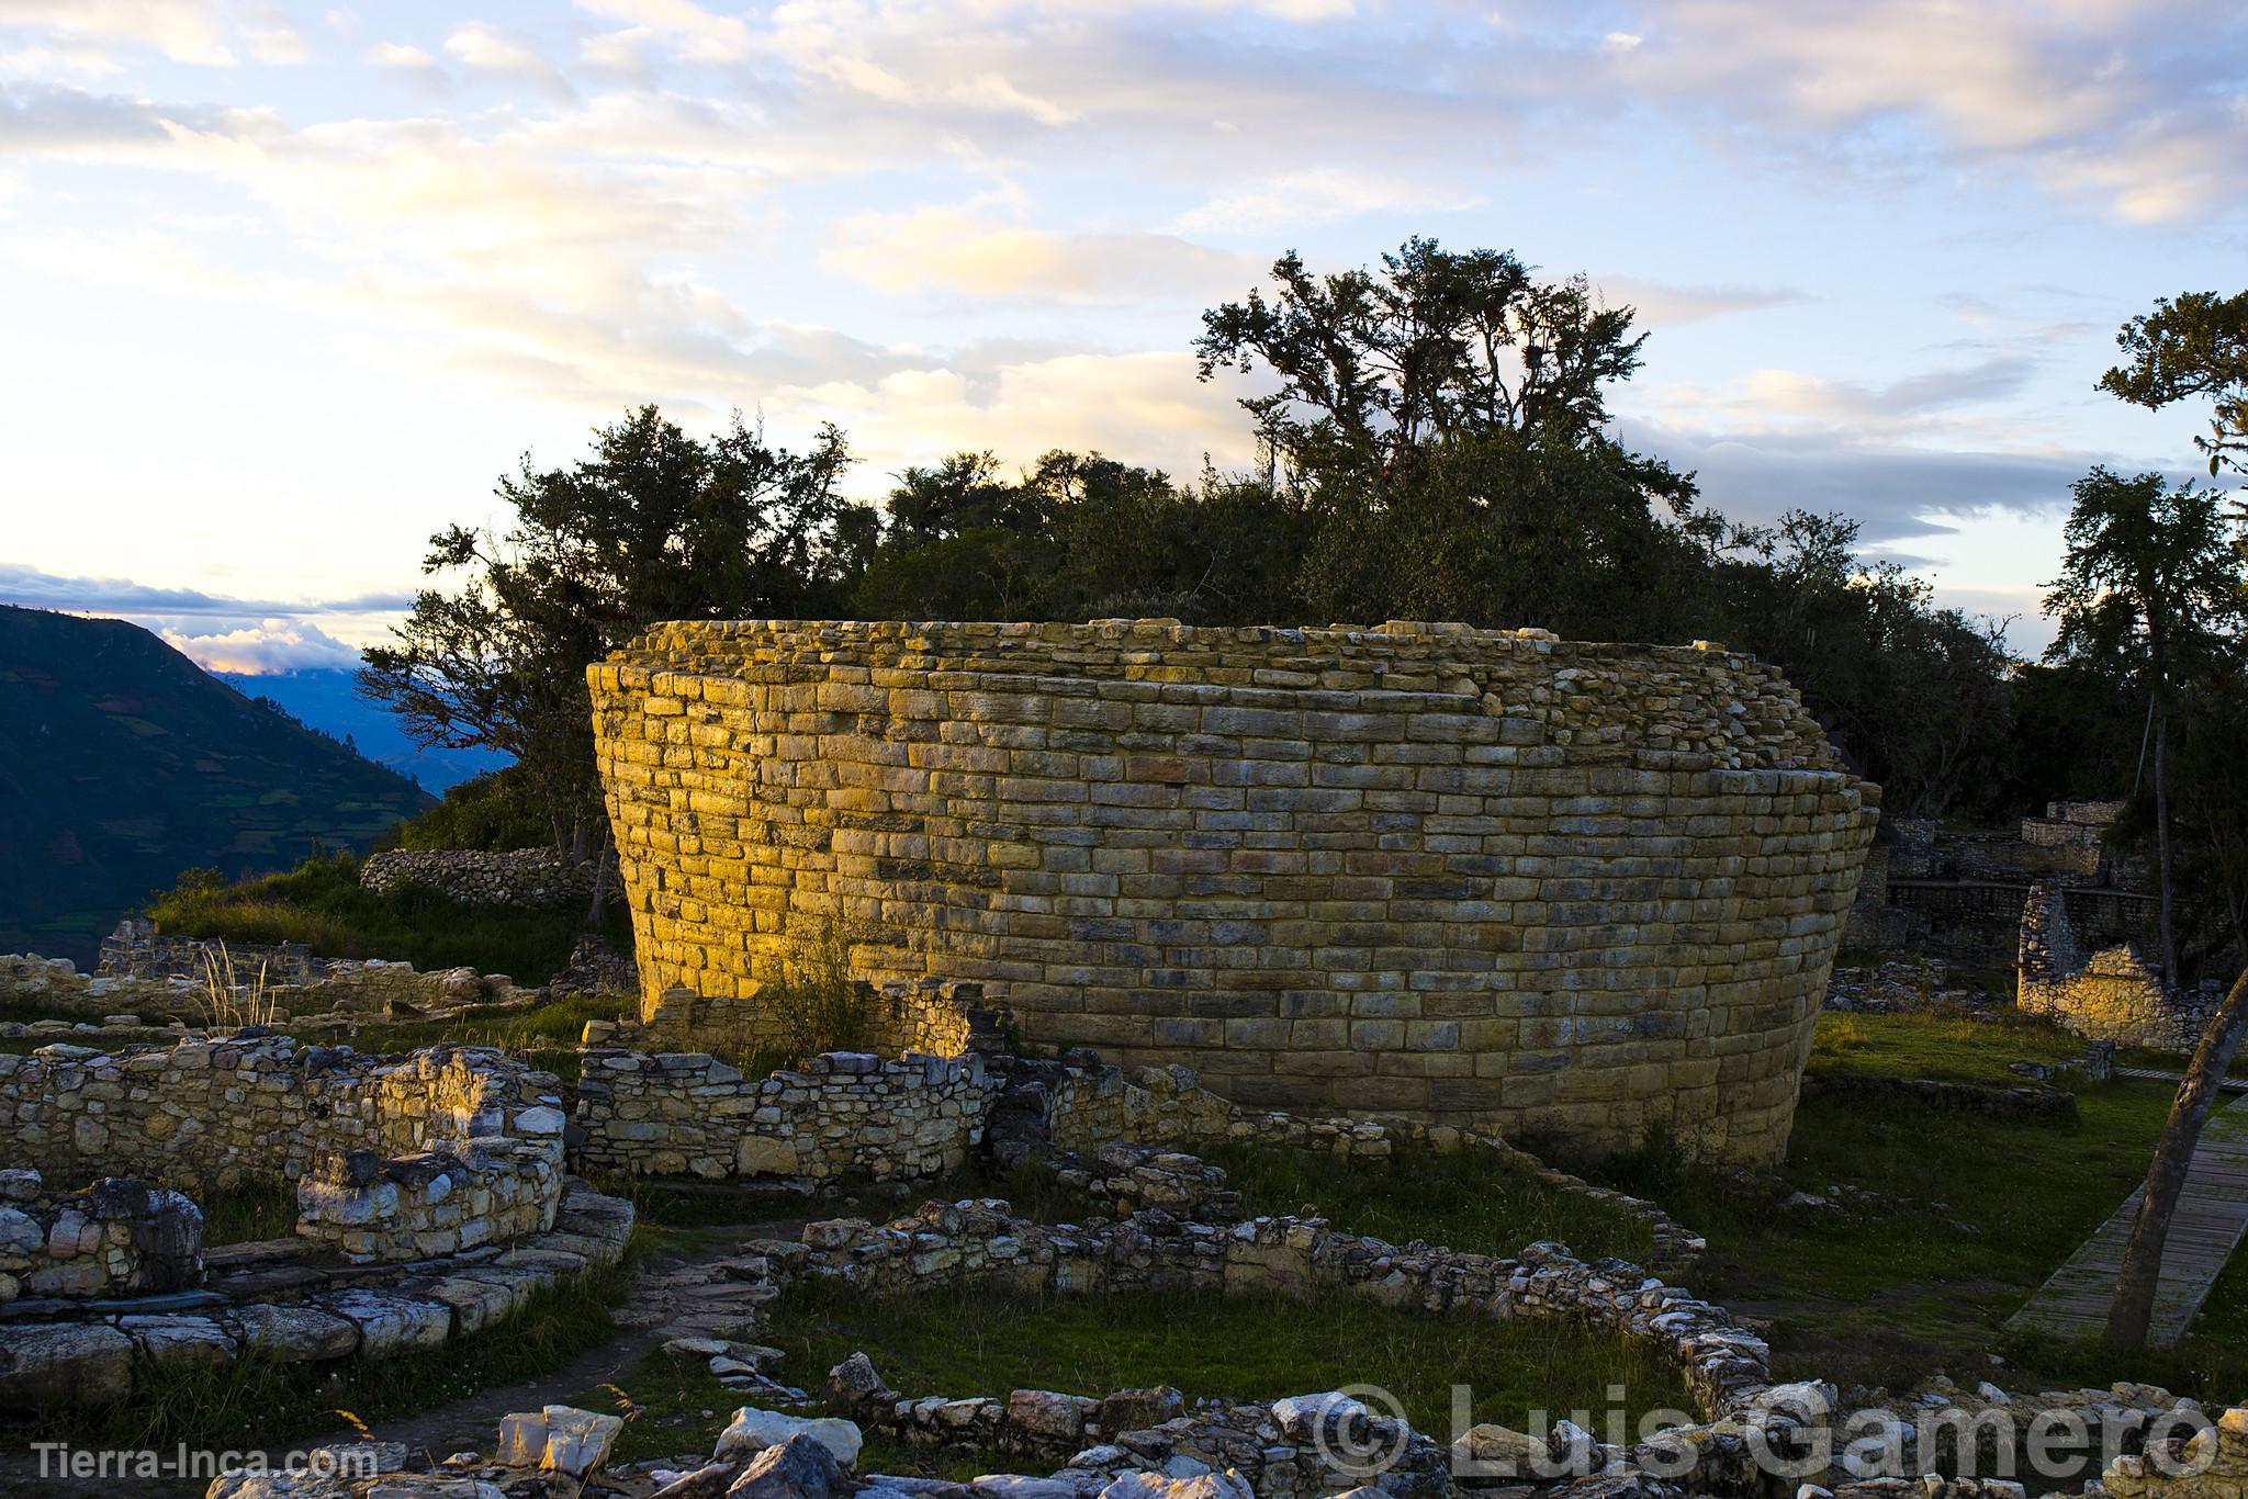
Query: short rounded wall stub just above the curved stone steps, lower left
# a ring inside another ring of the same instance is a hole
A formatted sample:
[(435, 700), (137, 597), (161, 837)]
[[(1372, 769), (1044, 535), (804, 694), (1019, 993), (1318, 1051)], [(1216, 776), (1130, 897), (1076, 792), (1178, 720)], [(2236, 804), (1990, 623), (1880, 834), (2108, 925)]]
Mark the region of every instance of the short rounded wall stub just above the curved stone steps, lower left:
[(297, 1234), (353, 1263), (459, 1254), (553, 1227), (562, 1164), (544, 1142), (443, 1146), (384, 1160), (339, 1151), (297, 1182)]

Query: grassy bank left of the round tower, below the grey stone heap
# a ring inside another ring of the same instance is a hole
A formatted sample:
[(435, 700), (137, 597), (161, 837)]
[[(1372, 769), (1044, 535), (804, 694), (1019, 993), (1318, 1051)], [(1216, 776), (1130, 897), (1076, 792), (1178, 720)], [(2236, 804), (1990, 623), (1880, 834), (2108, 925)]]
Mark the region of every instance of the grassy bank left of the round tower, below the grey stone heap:
[[(157, 928), (227, 942), (303, 942), (319, 957), (387, 957), (416, 969), (477, 969), (542, 984), (569, 962), (582, 910), (515, 910), (456, 906), (434, 890), (360, 888), (351, 854), (310, 858), (288, 874), (225, 883), (211, 870), (189, 870), (148, 906)], [(623, 912), (605, 933), (632, 948)]]

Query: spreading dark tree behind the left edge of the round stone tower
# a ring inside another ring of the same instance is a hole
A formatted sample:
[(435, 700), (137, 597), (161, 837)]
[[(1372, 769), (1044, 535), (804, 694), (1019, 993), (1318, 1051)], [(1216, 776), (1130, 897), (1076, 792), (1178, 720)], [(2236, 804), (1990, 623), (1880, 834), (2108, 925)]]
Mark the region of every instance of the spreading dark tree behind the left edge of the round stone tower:
[(459, 584), (364, 652), (360, 692), (423, 746), (513, 755), (555, 845), (605, 856), (587, 665), (656, 620), (832, 611), (870, 535), (836, 494), (847, 461), (834, 427), (791, 454), (740, 416), (699, 440), (656, 407), (569, 467), (526, 454), (499, 481), (510, 530), (429, 539), (423, 571)]

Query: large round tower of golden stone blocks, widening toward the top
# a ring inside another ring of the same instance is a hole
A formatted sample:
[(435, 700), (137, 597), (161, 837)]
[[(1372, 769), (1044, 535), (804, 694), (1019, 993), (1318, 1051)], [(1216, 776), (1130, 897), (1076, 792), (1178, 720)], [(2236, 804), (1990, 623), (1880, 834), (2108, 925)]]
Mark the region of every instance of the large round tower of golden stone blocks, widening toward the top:
[(744, 620), (589, 679), (643, 1009), (843, 933), (1032, 1045), (1587, 1153), (1785, 1151), (1879, 807), (1715, 645)]

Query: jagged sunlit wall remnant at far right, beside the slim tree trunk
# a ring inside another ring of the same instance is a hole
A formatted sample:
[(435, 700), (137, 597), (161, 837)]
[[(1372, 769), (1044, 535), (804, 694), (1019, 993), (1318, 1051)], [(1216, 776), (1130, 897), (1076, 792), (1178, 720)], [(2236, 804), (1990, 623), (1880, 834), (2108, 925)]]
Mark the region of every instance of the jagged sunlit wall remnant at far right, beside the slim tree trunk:
[(2181, 993), (2138, 946), (2086, 953), (2061, 885), (2032, 885), (2021, 912), (2016, 1007), (2077, 1036), (2187, 1054), (2217, 1009), (2212, 993)]

